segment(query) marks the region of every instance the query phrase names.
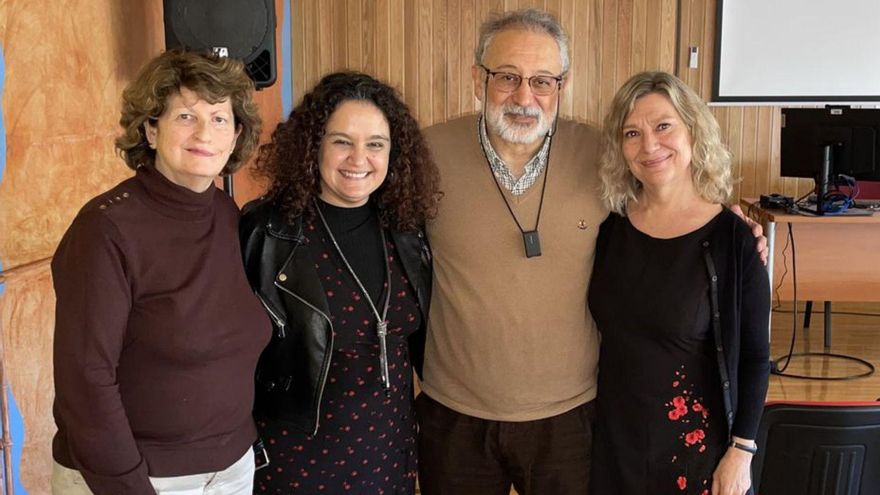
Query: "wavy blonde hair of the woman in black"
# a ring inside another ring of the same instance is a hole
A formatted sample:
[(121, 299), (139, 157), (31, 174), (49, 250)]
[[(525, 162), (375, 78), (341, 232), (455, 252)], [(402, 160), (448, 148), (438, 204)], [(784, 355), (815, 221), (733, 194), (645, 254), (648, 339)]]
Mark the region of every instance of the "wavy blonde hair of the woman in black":
[(733, 192), (731, 155), (721, 142), (721, 129), (709, 107), (681, 79), (667, 72), (641, 72), (632, 76), (614, 95), (611, 110), (605, 117), (604, 151), (599, 160), (602, 199), (620, 214), (626, 213), (629, 201), (638, 201), (642, 184), (630, 172), (623, 156), (623, 125), (636, 100), (649, 93), (665, 96), (693, 142), (691, 178), (697, 194), (706, 201), (726, 203)]

